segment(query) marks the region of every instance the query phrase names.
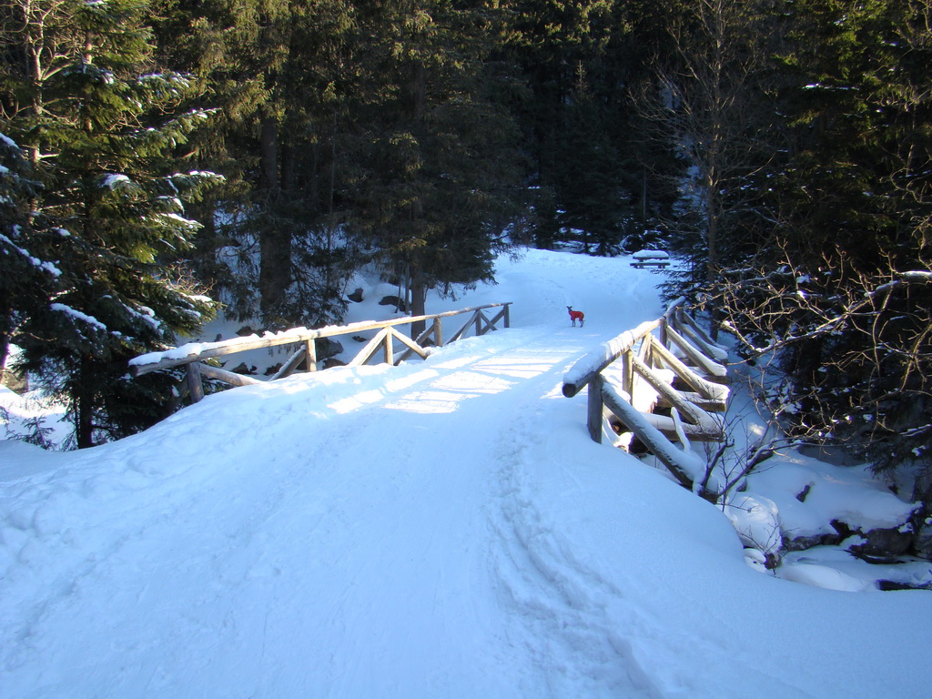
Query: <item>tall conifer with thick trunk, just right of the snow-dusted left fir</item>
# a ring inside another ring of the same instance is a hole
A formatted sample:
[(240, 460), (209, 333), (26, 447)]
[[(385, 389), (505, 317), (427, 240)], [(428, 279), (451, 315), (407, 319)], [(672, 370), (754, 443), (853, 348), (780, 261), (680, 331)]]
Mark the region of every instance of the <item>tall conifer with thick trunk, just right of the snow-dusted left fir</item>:
[(372, 41), (357, 8), (161, 4), (160, 52), (200, 76), (220, 113), (196, 139), (199, 160), (228, 175), (209, 202), (219, 215), (199, 241), (199, 271), (219, 286), (228, 316), (267, 327), (338, 321), (361, 257), (344, 228), (359, 140), (352, 112), (367, 72), (358, 54)]

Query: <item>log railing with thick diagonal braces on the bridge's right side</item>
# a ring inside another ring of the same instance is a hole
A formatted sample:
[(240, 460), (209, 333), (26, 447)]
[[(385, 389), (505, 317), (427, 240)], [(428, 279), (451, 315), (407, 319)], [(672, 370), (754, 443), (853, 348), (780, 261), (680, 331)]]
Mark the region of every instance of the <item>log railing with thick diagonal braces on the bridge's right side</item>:
[(656, 457), (679, 483), (692, 488), (707, 476), (692, 441), (723, 436), (717, 413), (728, 402), (728, 352), (706, 334), (678, 299), (663, 316), (603, 343), (563, 379), (568, 398), (588, 387), (586, 424), (598, 443), (635, 446)]

